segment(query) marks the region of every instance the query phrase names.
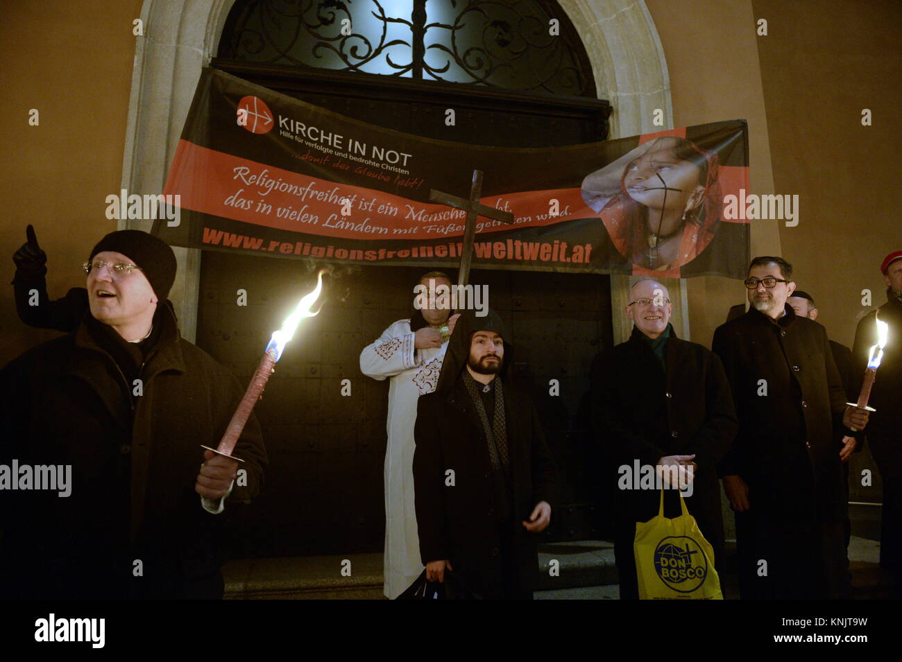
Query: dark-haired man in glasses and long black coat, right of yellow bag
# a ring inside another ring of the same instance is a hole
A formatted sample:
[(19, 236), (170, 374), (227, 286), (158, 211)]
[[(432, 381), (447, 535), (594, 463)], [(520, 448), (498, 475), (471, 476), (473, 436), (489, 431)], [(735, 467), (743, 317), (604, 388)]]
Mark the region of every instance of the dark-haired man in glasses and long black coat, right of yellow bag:
[(834, 426), (853, 436), (867, 412), (848, 407), (824, 327), (786, 302), (783, 258), (754, 258), (748, 313), (714, 331), (740, 430), (720, 473), (736, 512), (744, 599), (825, 599), (848, 591), (842, 468)]

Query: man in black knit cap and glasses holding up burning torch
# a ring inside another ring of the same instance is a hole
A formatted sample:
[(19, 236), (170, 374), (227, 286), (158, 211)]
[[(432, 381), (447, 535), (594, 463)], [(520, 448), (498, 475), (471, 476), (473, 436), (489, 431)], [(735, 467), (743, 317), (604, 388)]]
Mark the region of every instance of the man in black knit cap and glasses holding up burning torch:
[[(200, 449), (216, 446), (242, 389), (158, 305), (175, 271), (163, 241), (107, 234), (86, 263), (78, 328), (0, 370), (0, 595), (222, 597), (224, 518), (258, 494), (266, 454), (253, 416), (241, 474)], [(28, 484), (46, 467), (69, 494)]]

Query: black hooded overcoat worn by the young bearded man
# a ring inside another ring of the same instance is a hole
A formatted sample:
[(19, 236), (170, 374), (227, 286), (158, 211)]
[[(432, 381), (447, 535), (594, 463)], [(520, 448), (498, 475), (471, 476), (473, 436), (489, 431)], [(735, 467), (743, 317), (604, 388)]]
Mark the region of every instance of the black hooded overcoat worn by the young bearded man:
[[(495, 378), (505, 379), (512, 549), (524, 591), (532, 590), (537, 582), (538, 535), (526, 531), (520, 522), (529, 519), (540, 501), (551, 505), (552, 521), (557, 507), (557, 468), (529, 395), (506, 378), (513, 354), (510, 335), (499, 322), (493, 313), (476, 322), (472, 312), (467, 312), (458, 320), (437, 390), (420, 396), (414, 426), (414, 501), (423, 564), (449, 560), (465, 584), (486, 598), (502, 596), (502, 542), (493, 510), (495, 493), (488, 446), (460, 378), (470, 331), (499, 331), (505, 339), (505, 369)], [(454, 485), (447, 485), (448, 470), (454, 471)]]

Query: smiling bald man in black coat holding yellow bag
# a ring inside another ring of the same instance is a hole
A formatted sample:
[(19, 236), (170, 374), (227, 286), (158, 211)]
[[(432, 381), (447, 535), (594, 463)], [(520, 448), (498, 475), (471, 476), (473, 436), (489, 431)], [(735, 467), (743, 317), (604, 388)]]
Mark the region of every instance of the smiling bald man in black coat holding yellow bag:
[[(738, 423), (730, 385), (719, 358), (694, 342), (680, 340), (670, 325), (667, 287), (640, 280), (630, 290), (626, 313), (634, 323), (630, 340), (600, 353), (592, 367), (592, 410), (596, 443), (608, 466), (605, 479), (617, 491), (614, 554), (621, 600), (637, 600), (639, 585), (633, 540), (636, 522), (658, 514), (659, 492), (629, 489), (620, 467), (685, 466), (691, 471), (689, 512), (723, 562), (723, 515), (717, 463), (730, 448)], [(685, 483), (684, 483), (685, 485)], [(685, 490), (686, 494), (690, 490)], [(665, 493), (665, 515), (681, 512), (675, 490)]]

